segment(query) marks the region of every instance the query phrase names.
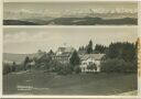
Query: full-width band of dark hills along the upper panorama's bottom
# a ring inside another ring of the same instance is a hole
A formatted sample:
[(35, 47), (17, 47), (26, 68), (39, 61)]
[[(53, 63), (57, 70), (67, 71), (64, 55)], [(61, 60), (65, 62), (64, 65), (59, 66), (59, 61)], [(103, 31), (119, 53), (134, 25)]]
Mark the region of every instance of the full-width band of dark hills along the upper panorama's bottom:
[(50, 20), (3, 20), (4, 25), (137, 25), (137, 18), (102, 19), (102, 18), (56, 18)]

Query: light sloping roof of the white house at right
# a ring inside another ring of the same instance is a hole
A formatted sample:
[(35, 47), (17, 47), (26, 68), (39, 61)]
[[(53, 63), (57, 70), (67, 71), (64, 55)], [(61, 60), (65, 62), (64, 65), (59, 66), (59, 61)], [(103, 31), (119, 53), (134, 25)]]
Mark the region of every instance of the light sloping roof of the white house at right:
[(94, 59), (101, 59), (105, 54), (85, 54), (80, 55), (82, 61), (86, 61), (88, 58), (94, 58)]

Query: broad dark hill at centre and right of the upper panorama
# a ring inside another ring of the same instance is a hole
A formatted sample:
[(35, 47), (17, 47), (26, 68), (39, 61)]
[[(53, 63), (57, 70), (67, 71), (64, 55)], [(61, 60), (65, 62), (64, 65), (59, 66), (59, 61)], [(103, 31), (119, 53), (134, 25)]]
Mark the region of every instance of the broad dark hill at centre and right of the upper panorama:
[(138, 20), (133, 18), (101, 19), (101, 18), (58, 18), (48, 21), (48, 24), (57, 25), (137, 25)]

